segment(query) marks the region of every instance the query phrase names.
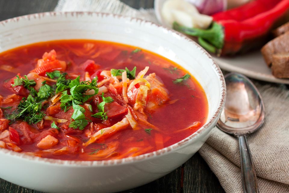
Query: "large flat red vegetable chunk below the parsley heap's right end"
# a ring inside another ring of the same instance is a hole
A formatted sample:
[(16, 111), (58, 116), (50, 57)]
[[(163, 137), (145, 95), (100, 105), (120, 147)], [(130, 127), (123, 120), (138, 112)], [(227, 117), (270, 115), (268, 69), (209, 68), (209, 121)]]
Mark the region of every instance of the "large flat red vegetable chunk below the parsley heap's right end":
[(120, 106), (116, 102), (105, 104), (104, 111), (107, 112), (107, 117), (110, 119), (120, 118), (127, 114), (127, 108)]

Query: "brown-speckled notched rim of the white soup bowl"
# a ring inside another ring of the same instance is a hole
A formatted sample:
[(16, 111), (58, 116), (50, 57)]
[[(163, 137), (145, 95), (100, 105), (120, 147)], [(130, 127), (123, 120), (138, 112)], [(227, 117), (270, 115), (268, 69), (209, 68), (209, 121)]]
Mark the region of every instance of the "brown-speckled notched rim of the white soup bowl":
[(200, 134), (204, 133), (205, 131), (207, 131), (209, 128), (213, 128), (214, 127), (214, 123), (216, 123), (218, 120), (219, 115), (222, 112), (222, 109), (224, 107), (225, 104), (225, 98), (226, 98), (226, 85), (225, 85), (225, 79), (224, 76), (222, 74), (221, 69), (219, 68), (219, 66), (217, 65), (217, 63), (213, 60), (213, 58), (211, 57), (211, 55), (204, 49), (202, 48), (200, 45), (198, 45), (194, 40), (190, 39), (189, 37), (183, 35), (182, 33), (175, 31), (171, 28), (168, 28), (166, 26), (162, 26), (159, 24), (156, 24), (154, 22), (151, 21), (146, 21), (144, 19), (140, 19), (140, 18), (136, 18), (136, 17), (129, 17), (129, 16), (123, 16), (123, 15), (119, 15), (119, 14), (112, 14), (112, 13), (102, 13), (102, 12), (92, 12), (92, 11), (67, 11), (67, 12), (55, 12), (55, 11), (50, 11), (50, 12), (41, 12), (41, 13), (34, 13), (34, 14), (27, 14), (27, 15), (23, 15), (23, 16), (19, 16), (19, 17), (13, 17), (13, 18), (9, 18), (3, 21), (0, 21), (0, 25), (5, 27), (6, 23), (9, 22), (21, 22), (22, 20), (30, 21), (30, 17), (31, 18), (38, 18), (41, 19), (42, 17), (51, 17), (52, 16), (67, 16), (68, 14), (70, 14), (70, 16), (74, 17), (77, 19), (78, 15), (87, 15), (87, 16), (92, 16), (92, 15), (101, 15), (101, 17), (113, 17), (113, 18), (117, 18), (117, 19), (125, 19), (125, 20), (129, 20), (129, 21), (135, 21), (135, 22), (145, 22), (148, 23), (150, 25), (154, 25), (158, 28), (162, 28), (165, 30), (168, 30), (172, 33), (175, 33), (176, 35), (178, 35), (180, 38), (188, 41), (189, 43), (194, 44), (194, 46), (197, 46), (201, 52), (203, 52), (211, 61), (212, 61), (212, 67), (213, 69), (216, 71), (217, 76), (219, 77), (219, 84), (220, 84), (220, 97), (219, 97), (219, 102), (218, 102), (218, 106), (216, 111), (213, 113), (213, 116), (210, 118), (210, 120), (203, 125), (201, 128), (199, 128), (196, 132), (194, 132), (193, 134), (191, 134), (190, 136), (186, 137), (185, 139), (178, 141), (175, 144), (172, 144), (168, 147), (165, 147), (163, 149), (160, 150), (156, 150), (150, 153), (145, 153), (145, 154), (141, 154), (135, 157), (126, 157), (126, 158), (122, 158), (122, 159), (115, 159), (115, 160), (98, 160), (98, 161), (81, 161), (81, 160), (57, 160), (57, 159), (52, 159), (52, 158), (43, 158), (43, 157), (36, 157), (36, 156), (30, 156), (30, 155), (26, 155), (25, 153), (18, 153), (18, 152), (14, 152), (11, 150), (7, 150), (4, 148), (0, 148), (0, 154), (8, 154), (11, 157), (16, 157), (18, 159), (24, 159), (26, 161), (33, 161), (33, 162), (41, 162), (43, 164), (56, 164), (56, 165), (63, 165), (63, 166), (115, 166), (115, 165), (122, 165), (122, 164), (128, 164), (131, 162), (138, 162), (138, 161), (142, 161), (142, 160), (148, 160), (154, 157), (160, 157), (162, 155), (165, 155), (167, 153), (169, 153), (172, 150), (175, 149), (179, 149), (181, 147), (185, 147), (186, 144), (188, 144), (190, 141), (194, 140), (195, 138), (197, 138), (197, 136), (200, 136)]

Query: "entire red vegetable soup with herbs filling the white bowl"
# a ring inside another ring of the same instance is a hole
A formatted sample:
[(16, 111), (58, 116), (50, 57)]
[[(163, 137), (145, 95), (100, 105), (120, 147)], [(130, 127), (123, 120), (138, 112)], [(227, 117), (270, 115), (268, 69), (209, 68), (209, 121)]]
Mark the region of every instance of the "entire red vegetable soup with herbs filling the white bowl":
[(193, 134), (208, 113), (204, 90), (185, 69), (112, 42), (50, 41), (3, 52), (0, 82), (0, 147), (39, 157), (137, 156)]

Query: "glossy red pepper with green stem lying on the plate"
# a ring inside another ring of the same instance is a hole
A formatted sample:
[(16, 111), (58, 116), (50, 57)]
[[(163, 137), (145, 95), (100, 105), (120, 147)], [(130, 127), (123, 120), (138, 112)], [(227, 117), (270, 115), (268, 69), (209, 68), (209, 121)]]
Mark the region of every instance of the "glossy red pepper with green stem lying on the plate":
[(255, 0), (213, 16), (207, 30), (187, 28), (176, 22), (173, 28), (197, 36), (199, 44), (218, 55), (233, 55), (266, 43), (270, 30), (284, 23), (289, 0)]

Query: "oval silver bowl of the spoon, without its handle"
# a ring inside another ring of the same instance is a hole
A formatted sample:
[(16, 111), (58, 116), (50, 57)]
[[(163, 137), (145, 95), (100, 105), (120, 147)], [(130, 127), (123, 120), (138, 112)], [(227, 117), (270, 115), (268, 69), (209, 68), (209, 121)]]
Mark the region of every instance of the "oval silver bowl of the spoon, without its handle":
[(261, 95), (254, 84), (242, 74), (225, 76), (227, 96), (217, 126), (235, 136), (249, 134), (264, 123), (265, 111)]

